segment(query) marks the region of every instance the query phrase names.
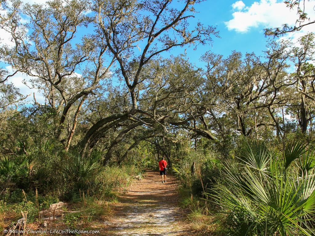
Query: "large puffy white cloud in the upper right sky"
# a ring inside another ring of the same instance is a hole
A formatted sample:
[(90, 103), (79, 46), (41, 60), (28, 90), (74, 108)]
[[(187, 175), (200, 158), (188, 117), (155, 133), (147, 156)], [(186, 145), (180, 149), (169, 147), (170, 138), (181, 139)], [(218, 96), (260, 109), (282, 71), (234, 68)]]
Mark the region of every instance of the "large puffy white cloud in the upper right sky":
[[(232, 4), (235, 10), (232, 14), (233, 19), (225, 22), (228, 30), (246, 33), (250, 29), (257, 27), (264, 29), (280, 27), (283, 24), (295, 25), (295, 21), (298, 18), (296, 9), (290, 10), (286, 4), (276, 0), (260, 0), (243, 8), (237, 7), (241, 7), (241, 4), (238, 2)], [(308, 13), (308, 17), (311, 20), (315, 19), (314, 6), (315, 0), (305, 1), (306, 13)], [(309, 25), (303, 30), (315, 31), (315, 24)]]

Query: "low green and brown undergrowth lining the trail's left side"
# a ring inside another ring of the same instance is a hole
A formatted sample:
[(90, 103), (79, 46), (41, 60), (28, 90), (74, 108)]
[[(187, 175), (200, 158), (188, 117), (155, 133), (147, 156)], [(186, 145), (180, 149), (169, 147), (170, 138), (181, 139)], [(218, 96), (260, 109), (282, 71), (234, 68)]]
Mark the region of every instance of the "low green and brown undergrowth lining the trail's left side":
[[(23, 214), (27, 224), (52, 228), (58, 219), (59, 227), (94, 229), (93, 221), (109, 219), (111, 205), (119, 201), (118, 196), (135, 176), (142, 175), (142, 169), (135, 165), (102, 166), (96, 156), (82, 159), (80, 155), (67, 155), (63, 162), (59, 158), (53, 155), (55, 160), (45, 169), (38, 166), (46, 162), (37, 159), (35, 163), (24, 155), (1, 159), (0, 230), (24, 218)], [(58, 209), (62, 211), (61, 220), (57, 213), (48, 220), (41, 215), (60, 201), (67, 203)]]

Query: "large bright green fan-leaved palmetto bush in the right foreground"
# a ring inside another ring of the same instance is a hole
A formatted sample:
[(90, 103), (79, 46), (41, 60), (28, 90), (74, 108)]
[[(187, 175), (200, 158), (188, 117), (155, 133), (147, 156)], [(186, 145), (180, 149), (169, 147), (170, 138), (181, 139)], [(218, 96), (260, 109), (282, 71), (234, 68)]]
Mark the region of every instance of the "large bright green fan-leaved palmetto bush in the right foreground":
[(272, 152), (245, 142), (235, 160), (211, 194), (231, 235), (315, 235), (315, 155), (306, 145), (292, 141)]

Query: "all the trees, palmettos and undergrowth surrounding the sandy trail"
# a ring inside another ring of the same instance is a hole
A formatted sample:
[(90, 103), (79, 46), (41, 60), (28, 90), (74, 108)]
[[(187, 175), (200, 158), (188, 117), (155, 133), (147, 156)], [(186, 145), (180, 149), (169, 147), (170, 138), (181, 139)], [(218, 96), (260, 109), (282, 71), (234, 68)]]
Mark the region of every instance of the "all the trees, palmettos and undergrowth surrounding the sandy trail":
[(315, 34), (194, 61), (201, 2), (0, 0), (0, 232), (100, 229), (164, 157), (195, 234), (315, 234)]

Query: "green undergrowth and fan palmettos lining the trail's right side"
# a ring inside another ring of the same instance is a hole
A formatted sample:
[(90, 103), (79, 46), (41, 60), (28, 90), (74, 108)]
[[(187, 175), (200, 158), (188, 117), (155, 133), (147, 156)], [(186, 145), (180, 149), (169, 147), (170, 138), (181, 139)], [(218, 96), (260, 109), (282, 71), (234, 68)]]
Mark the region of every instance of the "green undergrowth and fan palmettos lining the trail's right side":
[(314, 147), (296, 138), (274, 145), (244, 139), (228, 158), (184, 155), (173, 172), (195, 232), (314, 235)]

